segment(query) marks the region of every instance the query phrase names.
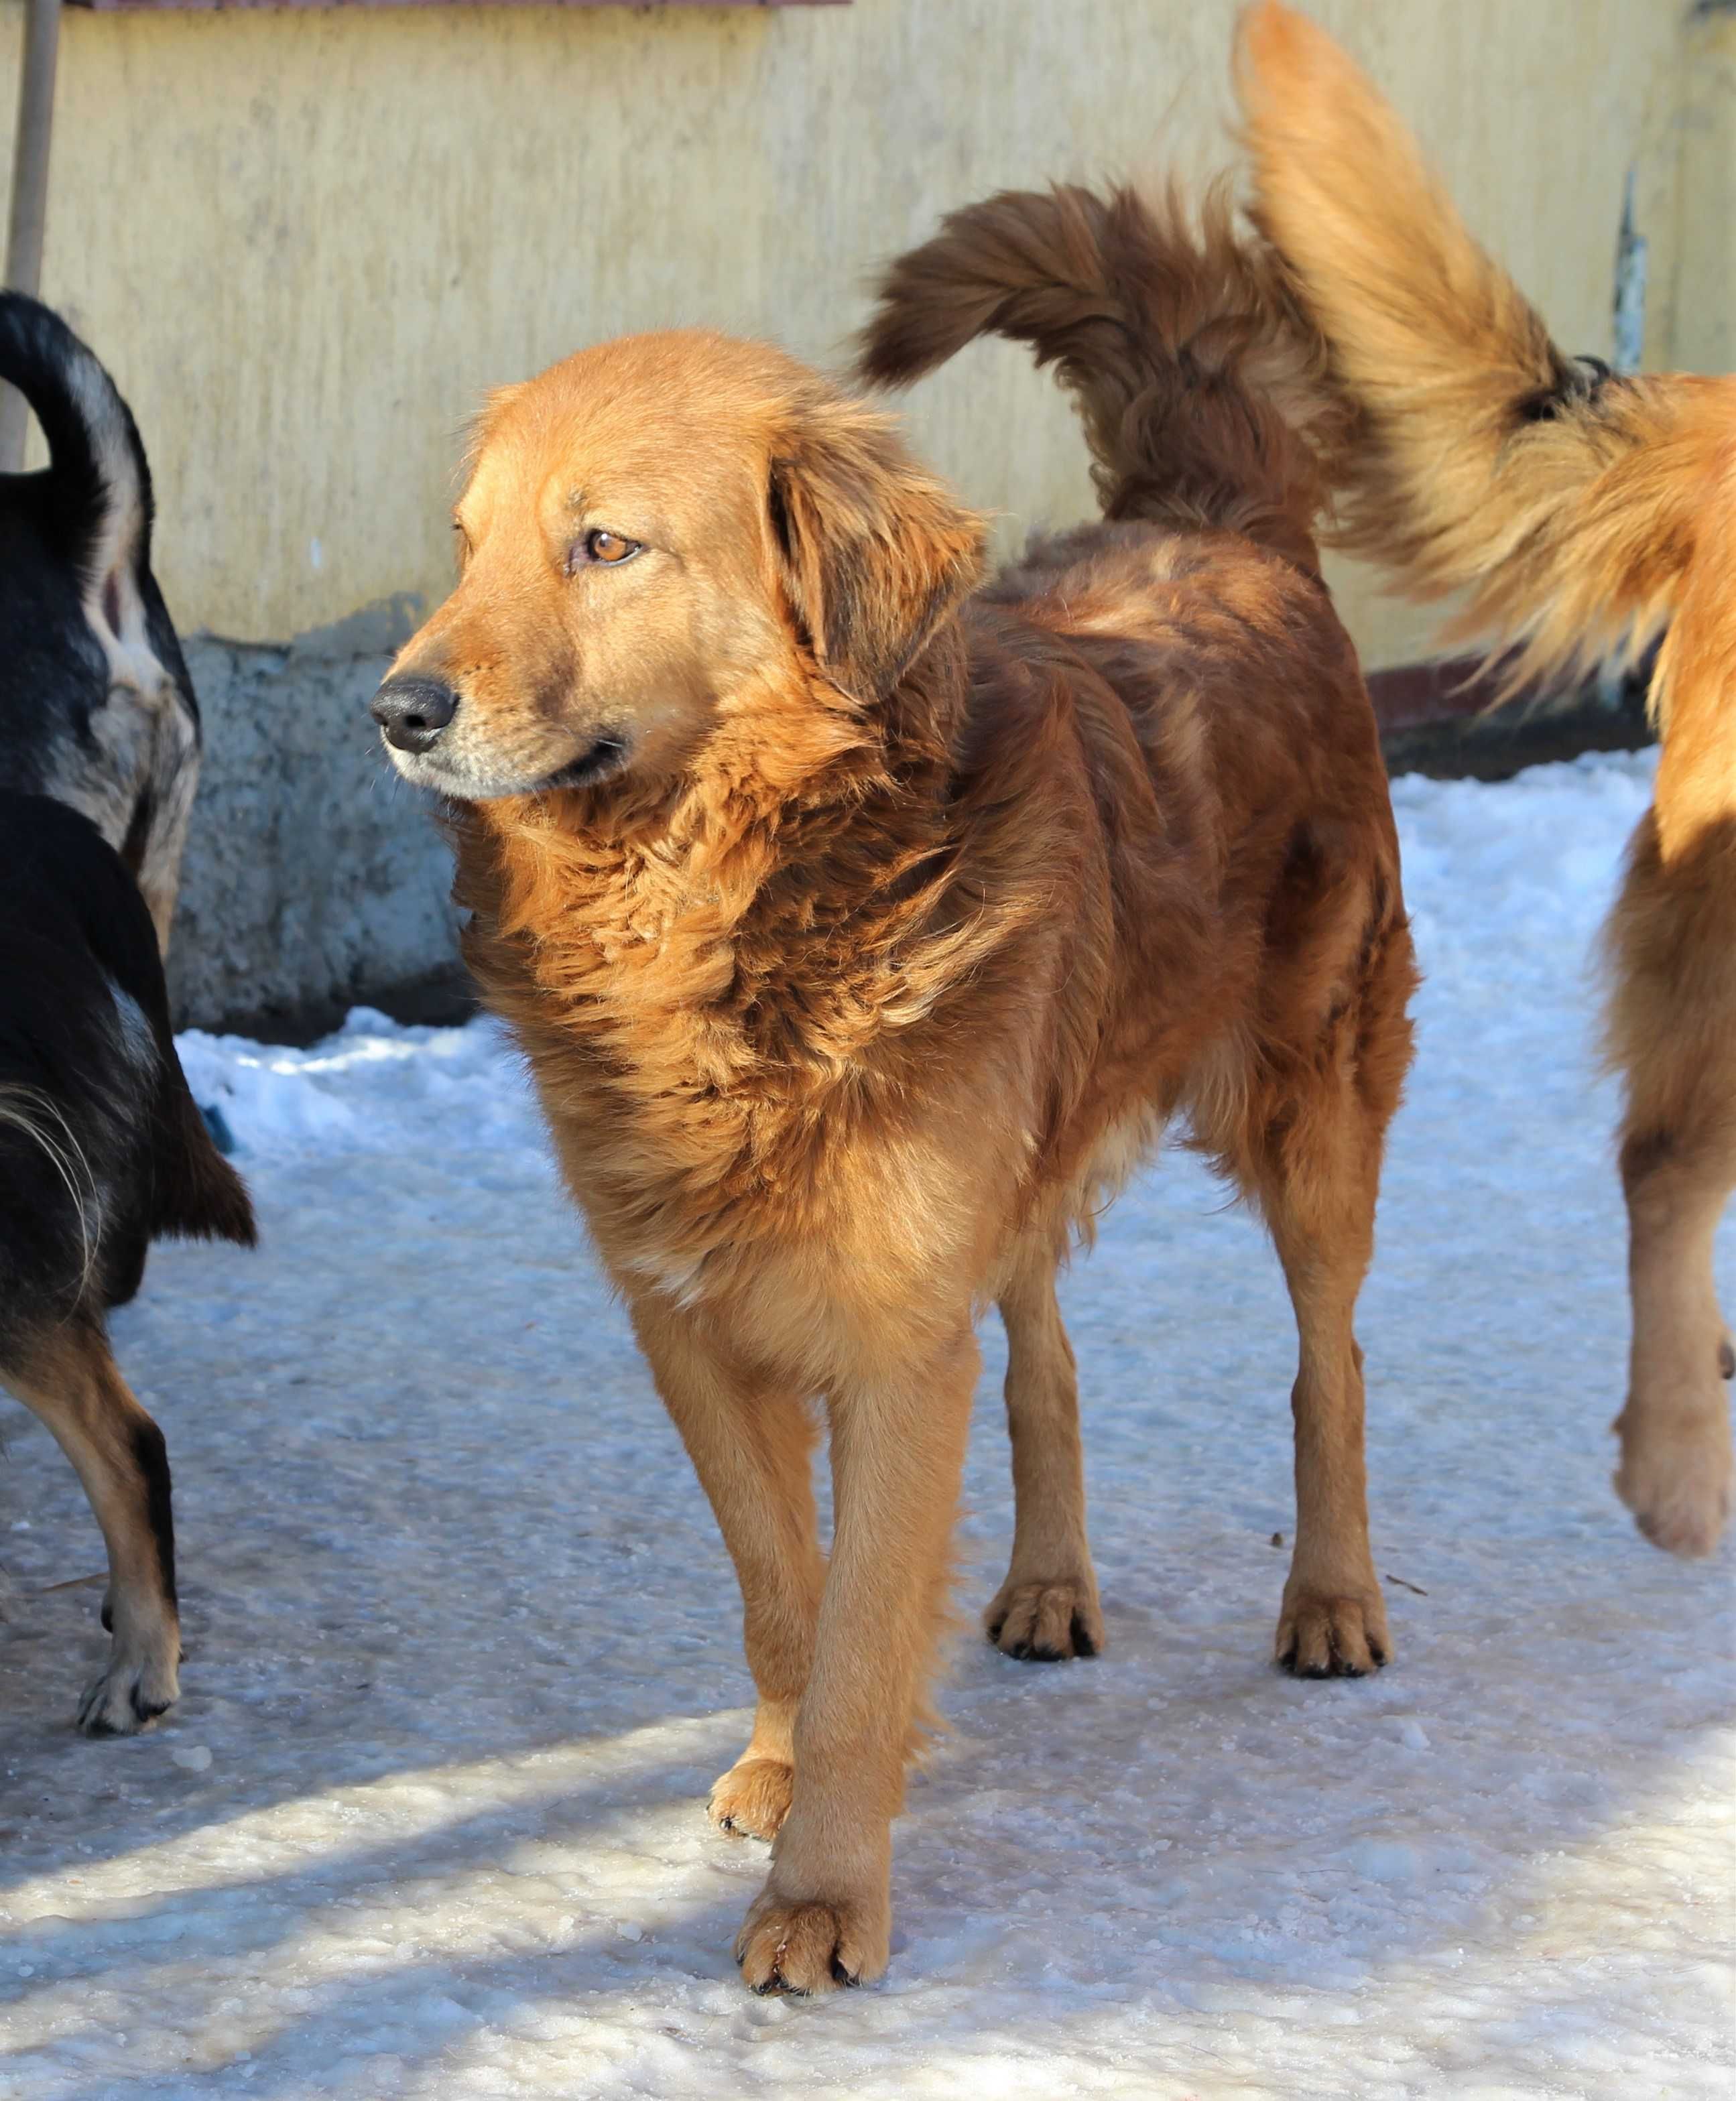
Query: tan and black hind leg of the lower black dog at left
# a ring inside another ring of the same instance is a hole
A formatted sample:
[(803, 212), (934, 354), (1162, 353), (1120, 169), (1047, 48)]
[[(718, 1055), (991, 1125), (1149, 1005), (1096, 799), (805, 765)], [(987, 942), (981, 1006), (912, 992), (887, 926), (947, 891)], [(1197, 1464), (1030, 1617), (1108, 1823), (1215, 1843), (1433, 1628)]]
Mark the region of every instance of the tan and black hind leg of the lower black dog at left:
[(132, 1735), (181, 1693), (174, 1519), (168, 1448), (109, 1355), (103, 1330), (74, 1317), (40, 1338), (6, 1385), (71, 1460), (109, 1551), (109, 1660), (78, 1706), (86, 1735)]

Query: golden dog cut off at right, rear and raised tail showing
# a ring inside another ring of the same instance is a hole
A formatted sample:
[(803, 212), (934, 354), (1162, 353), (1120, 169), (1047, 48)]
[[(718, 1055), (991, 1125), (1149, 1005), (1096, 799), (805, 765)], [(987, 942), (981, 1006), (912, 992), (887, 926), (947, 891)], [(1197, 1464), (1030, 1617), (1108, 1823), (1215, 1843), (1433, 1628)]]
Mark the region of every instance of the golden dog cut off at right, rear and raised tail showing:
[(1633, 1286), (1616, 1490), (1648, 1540), (1707, 1555), (1736, 1370), (1713, 1284), (1736, 1187), (1736, 380), (1564, 357), (1301, 15), (1255, 8), (1240, 76), (1259, 219), (1358, 412), (1345, 544), (1417, 597), (1469, 590), (1454, 632), (1515, 645), (1515, 683), (1669, 622), (1656, 803), (1608, 931)]

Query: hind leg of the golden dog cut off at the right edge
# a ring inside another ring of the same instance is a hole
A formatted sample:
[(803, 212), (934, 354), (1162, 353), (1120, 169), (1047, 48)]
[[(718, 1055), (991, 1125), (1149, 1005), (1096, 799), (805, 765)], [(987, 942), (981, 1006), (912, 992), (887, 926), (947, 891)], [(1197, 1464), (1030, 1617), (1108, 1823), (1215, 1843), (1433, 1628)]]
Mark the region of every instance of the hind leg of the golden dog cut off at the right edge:
[(1730, 1334), (1713, 1235), (1736, 1187), (1736, 813), (1667, 849), (1671, 752), (1610, 920), (1610, 1055), (1627, 1080), (1620, 1174), (1633, 1345), (1616, 1494), (1639, 1532), (1709, 1555), (1730, 1515)]

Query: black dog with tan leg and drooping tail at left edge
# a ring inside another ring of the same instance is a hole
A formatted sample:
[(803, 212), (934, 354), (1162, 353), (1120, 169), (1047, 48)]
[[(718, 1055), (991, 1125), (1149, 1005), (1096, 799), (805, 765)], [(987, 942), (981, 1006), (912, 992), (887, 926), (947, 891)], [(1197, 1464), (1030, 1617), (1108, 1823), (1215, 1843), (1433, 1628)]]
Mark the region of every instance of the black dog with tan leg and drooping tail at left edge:
[(179, 1691), (168, 1454), (105, 1334), (160, 1235), (252, 1246), (254, 1223), (174, 1055), (151, 916), (86, 817), (0, 790), (0, 1385), (55, 1433), (109, 1548), (88, 1735)]

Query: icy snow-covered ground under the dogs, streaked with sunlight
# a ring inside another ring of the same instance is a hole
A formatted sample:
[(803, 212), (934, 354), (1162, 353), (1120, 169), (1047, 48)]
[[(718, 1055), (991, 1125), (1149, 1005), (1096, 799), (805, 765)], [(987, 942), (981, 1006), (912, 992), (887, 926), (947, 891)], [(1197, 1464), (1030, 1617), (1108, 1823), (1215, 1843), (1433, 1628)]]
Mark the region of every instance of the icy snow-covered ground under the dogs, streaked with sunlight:
[(1112, 1647), (960, 1647), (891, 1973), (807, 2004), (729, 1962), (763, 1874), (702, 1813), (748, 1714), (733, 1580), (492, 1027), (187, 1038), (265, 1246), (160, 1250), (116, 1322), (187, 1620), (143, 1738), (69, 1729), (101, 1546), (4, 1410), (0, 2095), (1736, 2093), (1736, 1555), (1669, 1561), (1608, 1485), (1589, 954), (1648, 775), (1396, 788), (1429, 973), (1362, 1315), (1396, 1664), (1267, 1664), (1288, 1309), (1164, 1162), (1066, 1286)]

